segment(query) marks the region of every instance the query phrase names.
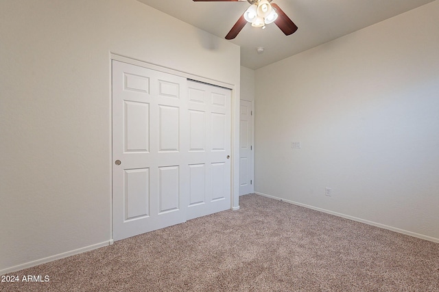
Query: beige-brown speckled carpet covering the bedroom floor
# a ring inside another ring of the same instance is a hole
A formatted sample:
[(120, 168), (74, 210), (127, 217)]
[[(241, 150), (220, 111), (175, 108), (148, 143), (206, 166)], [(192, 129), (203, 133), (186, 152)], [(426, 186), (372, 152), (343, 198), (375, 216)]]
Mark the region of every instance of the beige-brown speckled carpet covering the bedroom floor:
[(439, 244), (257, 195), (14, 275), (0, 291), (439, 291)]

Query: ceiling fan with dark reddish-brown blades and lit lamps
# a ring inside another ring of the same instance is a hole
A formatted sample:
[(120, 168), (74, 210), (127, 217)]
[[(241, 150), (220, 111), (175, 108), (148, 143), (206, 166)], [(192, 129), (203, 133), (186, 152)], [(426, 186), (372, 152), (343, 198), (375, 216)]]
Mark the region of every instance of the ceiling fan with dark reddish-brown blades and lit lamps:
[(195, 2), (237, 2), (248, 1), (251, 6), (241, 15), (237, 23), (233, 25), (232, 29), (228, 32), (226, 40), (232, 40), (236, 38), (239, 31), (243, 29), (247, 23), (252, 23), (252, 27), (262, 27), (265, 29), (265, 25), (269, 23), (275, 23), (285, 36), (293, 34), (298, 27), (292, 22), (291, 19), (279, 8), (276, 4), (271, 4), (272, 0), (193, 0)]

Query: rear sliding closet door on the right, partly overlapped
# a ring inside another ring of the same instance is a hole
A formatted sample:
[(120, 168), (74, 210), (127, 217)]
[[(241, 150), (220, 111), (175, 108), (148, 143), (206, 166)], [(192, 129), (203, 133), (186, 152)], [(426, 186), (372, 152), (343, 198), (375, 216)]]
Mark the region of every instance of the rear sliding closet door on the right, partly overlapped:
[(187, 219), (230, 209), (230, 90), (188, 81)]

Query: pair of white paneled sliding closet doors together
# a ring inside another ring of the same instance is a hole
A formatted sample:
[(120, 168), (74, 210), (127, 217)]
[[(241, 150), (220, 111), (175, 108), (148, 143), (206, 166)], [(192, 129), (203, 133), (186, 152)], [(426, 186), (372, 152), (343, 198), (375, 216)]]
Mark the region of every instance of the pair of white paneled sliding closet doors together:
[(114, 240), (229, 209), (228, 155), (230, 90), (112, 62)]

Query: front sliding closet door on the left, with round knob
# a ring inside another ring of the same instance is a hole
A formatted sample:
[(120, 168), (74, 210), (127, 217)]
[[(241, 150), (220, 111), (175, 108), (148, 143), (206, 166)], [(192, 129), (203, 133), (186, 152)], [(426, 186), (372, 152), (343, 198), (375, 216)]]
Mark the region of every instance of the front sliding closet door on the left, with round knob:
[(112, 62), (113, 239), (185, 222), (187, 120), (185, 78)]

